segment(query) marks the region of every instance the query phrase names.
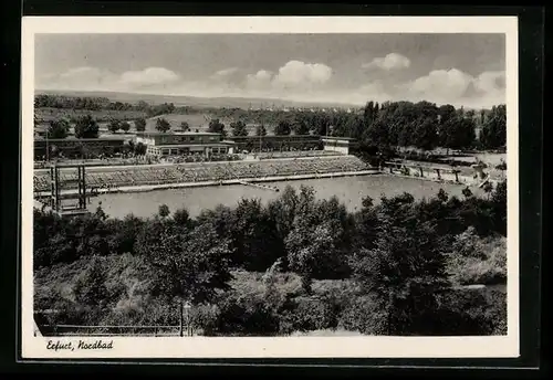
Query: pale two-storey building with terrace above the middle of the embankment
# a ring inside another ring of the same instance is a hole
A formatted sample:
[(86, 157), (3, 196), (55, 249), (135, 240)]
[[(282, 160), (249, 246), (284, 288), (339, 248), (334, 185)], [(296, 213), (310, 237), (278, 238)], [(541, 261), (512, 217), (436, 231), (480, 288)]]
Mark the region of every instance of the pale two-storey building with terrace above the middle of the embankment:
[(234, 144), (222, 139), (220, 134), (201, 131), (137, 133), (136, 144), (146, 146), (146, 154), (156, 157), (201, 154), (233, 154)]

